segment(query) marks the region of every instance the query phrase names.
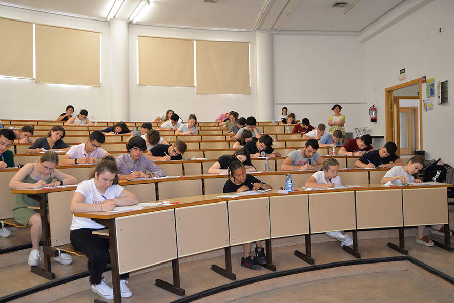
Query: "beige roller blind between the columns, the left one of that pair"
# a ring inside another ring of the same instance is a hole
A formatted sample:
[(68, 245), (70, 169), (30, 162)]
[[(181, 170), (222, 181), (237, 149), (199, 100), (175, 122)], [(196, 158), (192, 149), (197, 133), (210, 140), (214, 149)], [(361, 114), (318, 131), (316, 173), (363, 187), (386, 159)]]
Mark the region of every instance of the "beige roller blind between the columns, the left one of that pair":
[(194, 86), (194, 41), (139, 36), (139, 84)]

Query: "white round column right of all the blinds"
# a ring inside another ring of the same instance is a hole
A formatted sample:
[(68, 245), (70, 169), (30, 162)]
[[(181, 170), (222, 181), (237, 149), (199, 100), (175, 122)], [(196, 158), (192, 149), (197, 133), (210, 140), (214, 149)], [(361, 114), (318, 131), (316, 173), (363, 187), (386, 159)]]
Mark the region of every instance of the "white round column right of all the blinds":
[(271, 121), (274, 117), (273, 35), (256, 33), (257, 42), (257, 120)]

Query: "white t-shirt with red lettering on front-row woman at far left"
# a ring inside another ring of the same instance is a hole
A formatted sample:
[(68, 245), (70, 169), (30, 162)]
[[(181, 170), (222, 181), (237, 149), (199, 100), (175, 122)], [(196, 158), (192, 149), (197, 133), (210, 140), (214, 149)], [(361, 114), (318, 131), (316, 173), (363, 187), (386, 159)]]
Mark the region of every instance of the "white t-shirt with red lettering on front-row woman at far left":
[[(120, 193), (123, 191), (123, 187), (120, 185), (111, 185), (104, 196), (110, 200), (118, 198)], [(85, 197), (85, 203), (90, 204), (100, 204), (105, 199), (102, 197), (102, 194), (98, 191), (95, 185), (95, 179), (90, 179), (79, 183), (75, 192), (81, 193)], [(104, 225), (96, 223), (92, 219), (76, 217), (73, 215), (73, 220), (71, 223), (71, 230), (80, 229), (80, 228), (105, 228)]]

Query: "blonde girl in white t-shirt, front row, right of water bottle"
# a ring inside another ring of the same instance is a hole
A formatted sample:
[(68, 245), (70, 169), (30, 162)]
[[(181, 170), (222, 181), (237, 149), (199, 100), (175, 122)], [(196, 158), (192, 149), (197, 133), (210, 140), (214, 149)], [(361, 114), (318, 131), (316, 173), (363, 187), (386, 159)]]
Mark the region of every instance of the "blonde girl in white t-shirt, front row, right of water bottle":
[[(334, 188), (342, 185), (339, 177), (339, 162), (335, 158), (323, 161), (322, 168), (313, 174), (304, 185), (313, 188)], [(341, 246), (353, 245), (353, 239), (344, 231), (331, 231), (325, 233), (328, 237), (341, 241)]]

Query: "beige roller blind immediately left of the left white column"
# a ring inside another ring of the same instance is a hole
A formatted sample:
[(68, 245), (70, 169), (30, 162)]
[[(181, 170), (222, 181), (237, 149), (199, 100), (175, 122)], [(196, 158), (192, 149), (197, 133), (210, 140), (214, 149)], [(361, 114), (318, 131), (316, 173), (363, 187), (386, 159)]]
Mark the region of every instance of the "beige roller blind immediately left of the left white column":
[(99, 32), (36, 25), (36, 81), (100, 86)]

